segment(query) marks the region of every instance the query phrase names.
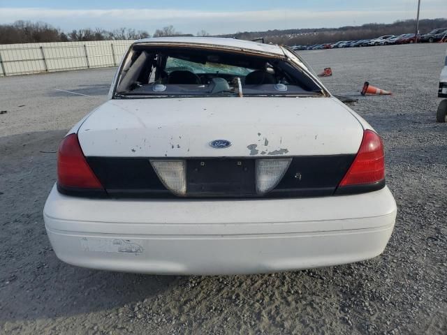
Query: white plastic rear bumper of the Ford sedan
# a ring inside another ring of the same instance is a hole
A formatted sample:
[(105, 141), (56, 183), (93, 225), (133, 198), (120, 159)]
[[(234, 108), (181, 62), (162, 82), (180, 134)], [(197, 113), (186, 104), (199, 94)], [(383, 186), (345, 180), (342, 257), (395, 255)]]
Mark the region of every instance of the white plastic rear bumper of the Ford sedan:
[(339, 265), (383, 252), (388, 188), (275, 200), (91, 200), (53, 188), (43, 211), (57, 257), (151, 274), (250, 274)]

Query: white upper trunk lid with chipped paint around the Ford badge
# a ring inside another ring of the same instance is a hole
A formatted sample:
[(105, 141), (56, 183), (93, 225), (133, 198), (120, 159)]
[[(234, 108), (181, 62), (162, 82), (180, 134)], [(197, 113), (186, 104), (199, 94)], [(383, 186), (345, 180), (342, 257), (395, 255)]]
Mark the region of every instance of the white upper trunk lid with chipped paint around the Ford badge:
[[(335, 98), (113, 100), (78, 131), (85, 156), (119, 157), (356, 154), (362, 135)], [(208, 145), (219, 139), (231, 147)]]

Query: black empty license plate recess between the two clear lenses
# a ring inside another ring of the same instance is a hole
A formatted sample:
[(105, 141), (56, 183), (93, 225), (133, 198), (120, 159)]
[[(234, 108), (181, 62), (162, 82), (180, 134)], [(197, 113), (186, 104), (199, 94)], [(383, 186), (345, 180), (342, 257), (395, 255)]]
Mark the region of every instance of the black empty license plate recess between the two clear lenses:
[(189, 159), (186, 194), (190, 196), (242, 196), (256, 194), (254, 159)]

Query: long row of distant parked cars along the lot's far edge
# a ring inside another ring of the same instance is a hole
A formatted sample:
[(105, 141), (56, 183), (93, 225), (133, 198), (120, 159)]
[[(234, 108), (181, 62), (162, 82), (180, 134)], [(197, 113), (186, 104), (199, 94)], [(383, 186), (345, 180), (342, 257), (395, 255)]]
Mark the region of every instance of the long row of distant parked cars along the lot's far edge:
[(383, 35), (378, 38), (368, 40), (339, 40), (336, 43), (325, 43), (315, 45), (294, 45), (293, 50), (321, 50), (335, 49), (339, 47), (370, 47), (374, 45), (394, 45), (415, 43), (416, 39), (419, 43), (447, 42), (447, 28), (434, 29), (428, 34), (402, 34)]

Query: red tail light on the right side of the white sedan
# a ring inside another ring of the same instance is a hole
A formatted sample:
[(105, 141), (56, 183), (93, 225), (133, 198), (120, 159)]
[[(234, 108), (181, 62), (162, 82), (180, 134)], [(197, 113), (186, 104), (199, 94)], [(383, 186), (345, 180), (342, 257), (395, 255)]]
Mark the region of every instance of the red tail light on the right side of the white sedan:
[(362, 144), (339, 186), (373, 184), (385, 178), (383, 143), (374, 131), (363, 133)]

